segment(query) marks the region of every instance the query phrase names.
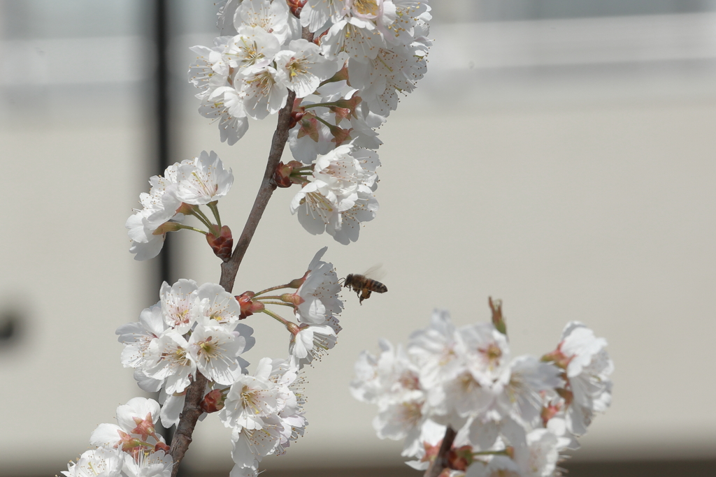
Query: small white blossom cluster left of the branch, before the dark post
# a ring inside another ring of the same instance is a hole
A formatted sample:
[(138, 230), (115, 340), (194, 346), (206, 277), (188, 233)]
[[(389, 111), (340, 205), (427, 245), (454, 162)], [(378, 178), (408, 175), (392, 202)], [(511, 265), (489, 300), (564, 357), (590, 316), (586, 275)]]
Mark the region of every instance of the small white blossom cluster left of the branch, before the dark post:
[[(190, 229), (221, 235), (216, 203), (231, 189), (233, 174), (231, 169), (224, 169), (215, 152), (202, 151), (199, 157), (176, 162), (167, 167), (164, 177), (150, 177), (149, 183), (152, 186), (149, 193), (140, 194), (142, 210), (136, 210), (125, 224), (132, 240), (130, 252), (136, 254), (135, 260), (156, 257), (162, 250), (167, 232)], [(218, 226), (201, 212), (200, 205), (208, 205)], [(197, 217), (208, 231), (183, 225), (185, 215)]]

